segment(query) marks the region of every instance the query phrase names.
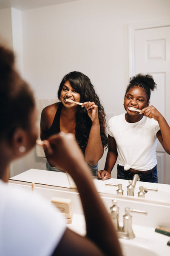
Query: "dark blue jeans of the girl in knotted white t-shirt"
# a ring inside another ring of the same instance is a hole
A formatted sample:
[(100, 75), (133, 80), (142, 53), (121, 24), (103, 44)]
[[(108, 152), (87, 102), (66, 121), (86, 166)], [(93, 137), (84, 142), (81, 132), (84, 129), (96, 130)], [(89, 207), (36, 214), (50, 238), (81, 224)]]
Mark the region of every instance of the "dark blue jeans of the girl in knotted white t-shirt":
[[(117, 165), (117, 179), (133, 180), (134, 175), (130, 170), (125, 171), (123, 166)], [(138, 175), (140, 181), (158, 183), (157, 166), (153, 167), (149, 173)]]

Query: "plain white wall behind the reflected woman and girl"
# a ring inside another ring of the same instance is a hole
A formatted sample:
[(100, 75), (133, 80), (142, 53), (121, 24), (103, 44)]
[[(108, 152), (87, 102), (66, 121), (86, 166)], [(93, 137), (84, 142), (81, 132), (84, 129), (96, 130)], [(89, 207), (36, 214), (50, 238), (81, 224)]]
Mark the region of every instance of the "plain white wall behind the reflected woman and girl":
[[(82, 0), (21, 15), (23, 73), (35, 95), (54, 98), (62, 77), (77, 70), (89, 76), (105, 111), (117, 115), (129, 80), (128, 24), (170, 18), (170, 1)], [(36, 157), (27, 165), (34, 166)]]

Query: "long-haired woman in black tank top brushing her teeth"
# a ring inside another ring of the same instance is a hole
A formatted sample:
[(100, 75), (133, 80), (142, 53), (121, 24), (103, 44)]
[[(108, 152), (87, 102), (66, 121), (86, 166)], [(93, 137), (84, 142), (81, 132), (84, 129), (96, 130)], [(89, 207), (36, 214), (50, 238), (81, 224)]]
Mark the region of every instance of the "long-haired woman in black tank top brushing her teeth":
[[(41, 139), (60, 131), (72, 133), (76, 137), (85, 161), (94, 176), (98, 171), (98, 161), (108, 140), (105, 134), (105, 112), (100, 104), (90, 79), (74, 71), (64, 76), (59, 90), (60, 102), (47, 106), (41, 114)], [(67, 99), (82, 102), (82, 106)], [(47, 158), (47, 170), (60, 171)]]

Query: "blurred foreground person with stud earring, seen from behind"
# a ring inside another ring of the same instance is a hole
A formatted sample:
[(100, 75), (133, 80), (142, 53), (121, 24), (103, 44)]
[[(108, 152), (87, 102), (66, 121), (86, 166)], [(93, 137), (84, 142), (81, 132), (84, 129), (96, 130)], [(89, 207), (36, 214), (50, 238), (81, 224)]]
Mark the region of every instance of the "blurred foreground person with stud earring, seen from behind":
[(51, 163), (67, 171), (77, 185), (86, 219), (85, 237), (65, 227), (65, 219), (51, 202), (3, 182), (9, 163), (34, 147), (38, 132), (33, 93), (14, 69), (13, 52), (2, 46), (0, 99), (0, 255), (121, 256), (111, 218), (72, 134), (59, 133), (42, 144)]

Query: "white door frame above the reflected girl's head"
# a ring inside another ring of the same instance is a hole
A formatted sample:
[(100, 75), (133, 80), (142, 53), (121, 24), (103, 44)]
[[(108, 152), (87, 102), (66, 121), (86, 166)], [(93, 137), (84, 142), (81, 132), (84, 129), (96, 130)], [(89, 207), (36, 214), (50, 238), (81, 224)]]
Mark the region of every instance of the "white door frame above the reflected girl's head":
[(170, 20), (128, 25), (129, 78), (135, 75), (135, 30), (170, 26)]

